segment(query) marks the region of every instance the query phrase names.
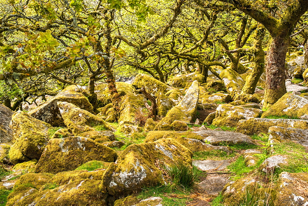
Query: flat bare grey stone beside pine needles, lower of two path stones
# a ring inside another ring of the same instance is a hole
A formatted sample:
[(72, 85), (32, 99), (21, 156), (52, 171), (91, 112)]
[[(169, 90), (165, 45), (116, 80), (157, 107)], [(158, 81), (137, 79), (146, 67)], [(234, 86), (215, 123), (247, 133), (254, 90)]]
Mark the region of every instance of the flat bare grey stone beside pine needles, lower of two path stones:
[(228, 182), (231, 181), (224, 177), (209, 177), (199, 183), (199, 185), (206, 191), (207, 194), (218, 195), (218, 193), (222, 191)]

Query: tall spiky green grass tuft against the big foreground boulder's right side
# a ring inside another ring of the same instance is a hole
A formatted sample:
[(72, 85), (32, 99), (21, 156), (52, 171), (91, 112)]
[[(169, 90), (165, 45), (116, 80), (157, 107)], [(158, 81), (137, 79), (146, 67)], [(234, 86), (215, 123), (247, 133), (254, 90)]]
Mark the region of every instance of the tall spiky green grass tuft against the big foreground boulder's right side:
[(171, 177), (173, 184), (182, 186), (185, 189), (191, 189), (199, 180), (201, 171), (196, 166), (186, 165), (183, 162), (178, 162), (171, 165), (168, 170), (168, 175)]

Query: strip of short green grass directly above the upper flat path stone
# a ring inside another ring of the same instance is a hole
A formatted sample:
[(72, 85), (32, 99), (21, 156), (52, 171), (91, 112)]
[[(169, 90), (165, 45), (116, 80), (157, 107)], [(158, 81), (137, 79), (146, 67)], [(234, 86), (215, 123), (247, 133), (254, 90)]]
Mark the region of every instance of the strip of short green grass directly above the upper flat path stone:
[(228, 155), (221, 150), (197, 151), (193, 153), (193, 160), (225, 160), (234, 156), (234, 152)]

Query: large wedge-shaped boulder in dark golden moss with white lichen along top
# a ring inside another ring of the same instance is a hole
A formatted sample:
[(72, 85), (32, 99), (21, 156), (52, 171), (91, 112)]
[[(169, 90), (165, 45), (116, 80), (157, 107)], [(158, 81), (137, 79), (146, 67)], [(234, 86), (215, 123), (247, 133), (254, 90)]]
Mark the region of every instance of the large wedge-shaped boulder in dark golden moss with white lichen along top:
[(114, 162), (116, 158), (114, 150), (86, 137), (51, 139), (36, 165), (35, 172), (55, 174), (74, 170), (91, 160)]

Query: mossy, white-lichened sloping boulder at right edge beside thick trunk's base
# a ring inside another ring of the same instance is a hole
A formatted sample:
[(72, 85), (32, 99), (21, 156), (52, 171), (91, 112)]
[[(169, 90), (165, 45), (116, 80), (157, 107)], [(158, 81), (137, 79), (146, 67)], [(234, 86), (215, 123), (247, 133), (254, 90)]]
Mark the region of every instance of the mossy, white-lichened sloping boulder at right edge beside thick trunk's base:
[(261, 118), (268, 116), (289, 116), (308, 119), (308, 100), (292, 93), (286, 93), (265, 111)]

